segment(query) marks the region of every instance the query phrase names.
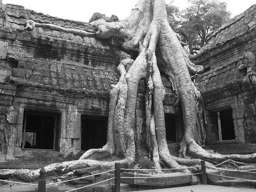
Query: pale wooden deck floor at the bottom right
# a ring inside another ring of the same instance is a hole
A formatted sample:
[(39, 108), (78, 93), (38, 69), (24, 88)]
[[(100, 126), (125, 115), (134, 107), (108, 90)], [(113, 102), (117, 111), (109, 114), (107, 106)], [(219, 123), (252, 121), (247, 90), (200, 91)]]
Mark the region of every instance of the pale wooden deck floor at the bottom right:
[(143, 190), (140, 192), (256, 192), (256, 189), (235, 188), (216, 185), (193, 185), (166, 189)]

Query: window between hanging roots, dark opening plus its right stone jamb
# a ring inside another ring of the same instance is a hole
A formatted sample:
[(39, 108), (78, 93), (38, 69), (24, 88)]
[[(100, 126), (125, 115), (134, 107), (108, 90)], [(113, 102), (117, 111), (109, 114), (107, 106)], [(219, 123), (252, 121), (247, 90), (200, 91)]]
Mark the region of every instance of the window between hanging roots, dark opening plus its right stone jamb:
[(165, 114), (166, 140), (168, 142), (180, 142), (183, 136), (182, 116)]

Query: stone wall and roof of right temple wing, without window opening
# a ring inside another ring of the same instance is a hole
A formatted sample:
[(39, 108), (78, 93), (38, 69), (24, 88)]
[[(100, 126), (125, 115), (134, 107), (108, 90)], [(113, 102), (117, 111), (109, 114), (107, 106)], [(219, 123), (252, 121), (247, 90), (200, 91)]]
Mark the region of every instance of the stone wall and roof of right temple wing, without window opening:
[[(252, 152), (255, 147), (251, 144), (256, 142), (255, 18), (256, 5), (224, 24), (212, 33), (195, 61), (208, 70), (196, 78), (208, 114), (232, 109), (236, 141), (250, 146)], [(208, 137), (211, 126), (207, 125)]]

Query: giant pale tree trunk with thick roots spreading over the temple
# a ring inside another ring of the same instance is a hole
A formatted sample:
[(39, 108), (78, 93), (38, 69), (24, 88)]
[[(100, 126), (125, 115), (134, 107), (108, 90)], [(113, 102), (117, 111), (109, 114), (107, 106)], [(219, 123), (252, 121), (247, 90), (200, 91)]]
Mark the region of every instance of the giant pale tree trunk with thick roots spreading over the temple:
[[(130, 16), (120, 22), (107, 23), (100, 19), (90, 23), (96, 29), (94, 34), (81, 30), (66, 29), (52, 24), (38, 24), (28, 21), (26, 30), (34, 27), (46, 27), (52, 30), (72, 32), (95, 38), (112, 38), (114, 44), (124, 50), (137, 50), (139, 55), (132, 60), (128, 54), (120, 52), (120, 64), (117, 71), (120, 75), (118, 84), (112, 85), (108, 115), (107, 143), (100, 149), (86, 151), (79, 160), (51, 164), (46, 166), (48, 174), (60, 170), (64, 173), (77, 168), (100, 164), (112, 168), (115, 162), (131, 162), (135, 159), (134, 142), (135, 109), (138, 82), (146, 80), (146, 131), (149, 157), (156, 169), (164, 164), (170, 168), (182, 168), (200, 164), (218, 164), (225, 160), (238, 162), (255, 162), (256, 153), (250, 155), (216, 154), (204, 150), (206, 134), (204, 130), (204, 102), (200, 92), (191, 81), (190, 76), (203, 72), (202, 66), (194, 66), (180, 42), (170, 28), (164, 0), (138, 0)], [(127, 64), (131, 67), (127, 69)], [(180, 143), (179, 157), (172, 156), (166, 142), (164, 121), (164, 87), (160, 72), (168, 76), (180, 101), (184, 120), (184, 138)], [(188, 155), (190, 158), (188, 158)], [(103, 161), (116, 157), (116, 161)], [(194, 159), (192, 159), (192, 158)], [(177, 169), (176, 171), (183, 171)], [(14, 175), (20, 179), (28, 177), (34, 180), (39, 170), (17, 170)], [(190, 172), (190, 170), (185, 170)]]

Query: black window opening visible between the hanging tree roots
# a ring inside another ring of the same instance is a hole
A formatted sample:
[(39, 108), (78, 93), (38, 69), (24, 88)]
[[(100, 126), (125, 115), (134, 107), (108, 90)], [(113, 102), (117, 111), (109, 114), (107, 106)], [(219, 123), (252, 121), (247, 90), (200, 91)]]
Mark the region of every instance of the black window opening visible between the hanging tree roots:
[(165, 129), (166, 129), (166, 140), (168, 142), (178, 142), (177, 141), (177, 132), (176, 132), (176, 116), (165, 114)]

